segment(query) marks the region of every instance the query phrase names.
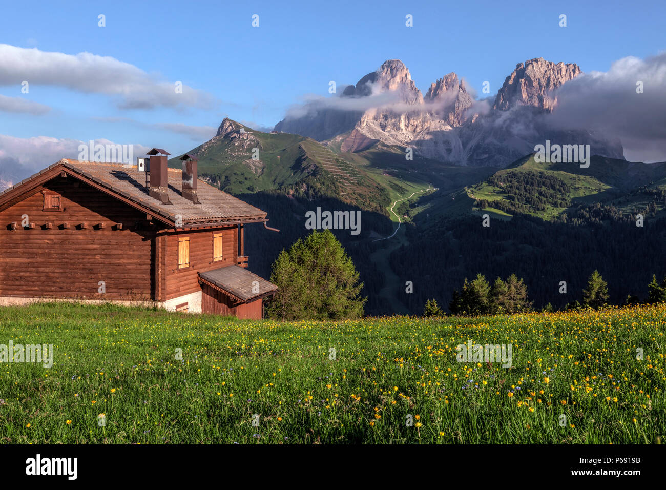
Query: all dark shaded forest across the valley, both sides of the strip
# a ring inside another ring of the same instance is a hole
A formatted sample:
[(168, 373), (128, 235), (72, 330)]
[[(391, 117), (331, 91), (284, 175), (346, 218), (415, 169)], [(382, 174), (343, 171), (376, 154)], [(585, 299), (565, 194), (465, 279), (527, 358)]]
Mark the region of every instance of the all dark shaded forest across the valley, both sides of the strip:
[[(280, 229), (275, 233), (261, 225), (246, 227), (249, 269), (262, 277), (270, 277), (272, 263), (282, 249), (310, 233), (304, 226), (306, 211), (317, 206), (358, 210), (336, 199), (310, 201), (272, 192), (238, 197), (268, 211), (268, 225)], [(492, 220), (490, 227), (482, 227), (480, 217), (470, 215), (406, 223), (410, 245), (390, 255), (391, 267), (400, 278), (399, 284), (390, 285), (396, 291), (394, 299), (378, 295), (387, 276), (372, 263), (370, 255), (386, 242), (373, 242), (368, 232), (387, 236), (395, 223), (380, 213), (362, 211), (360, 235), (344, 230), (333, 233), (360, 273), (364, 283), (361, 294), (368, 297), (366, 315), (390, 315), (396, 312), (396, 304), (406, 306), (412, 314), (421, 314), (428, 299), (436, 299), (446, 309), (453, 291), (477, 273), (489, 281), (515, 273), (527, 285), (535, 308), (547, 303), (563, 308), (580, 300), (587, 277), (595, 269), (608, 282), (611, 303), (621, 304), (627, 295), (644, 299), (652, 275), (663, 277), (666, 273), (666, 219), (647, 214), (645, 225), (637, 227), (616, 210), (599, 206), (581, 207), (567, 222), (517, 215), (510, 221)], [(406, 281), (414, 284), (412, 293), (405, 292)], [(560, 281), (566, 281), (567, 294), (559, 293)]]

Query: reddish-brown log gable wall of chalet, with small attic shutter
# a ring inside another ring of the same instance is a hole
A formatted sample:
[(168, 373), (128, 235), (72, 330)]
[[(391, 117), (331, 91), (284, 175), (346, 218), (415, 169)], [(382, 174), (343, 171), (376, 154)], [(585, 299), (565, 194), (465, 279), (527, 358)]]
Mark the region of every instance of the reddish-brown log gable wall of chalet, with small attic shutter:
[[(63, 211), (43, 211), (42, 190), (61, 195)], [(33, 229), (21, 227), (28, 215)], [(11, 230), (11, 223), (19, 223)], [(0, 209), (0, 295), (88, 299), (151, 299), (155, 251), (152, 227), (136, 229), (145, 213), (89, 185), (57, 177)], [(53, 223), (50, 229), (43, 226)], [(63, 223), (70, 223), (63, 227)], [(77, 229), (73, 223), (108, 223)], [(124, 223), (117, 229), (116, 223)], [(98, 293), (99, 281), (106, 293)]]

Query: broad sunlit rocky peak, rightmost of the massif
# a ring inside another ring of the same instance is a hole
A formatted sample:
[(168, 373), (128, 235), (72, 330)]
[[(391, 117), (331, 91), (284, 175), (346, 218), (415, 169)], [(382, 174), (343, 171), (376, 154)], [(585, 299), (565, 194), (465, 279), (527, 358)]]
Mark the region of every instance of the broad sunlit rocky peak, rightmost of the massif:
[(498, 91), (493, 109), (505, 111), (515, 105), (531, 105), (552, 111), (557, 103), (555, 89), (581, 73), (575, 63), (553, 63), (543, 58), (518, 63)]

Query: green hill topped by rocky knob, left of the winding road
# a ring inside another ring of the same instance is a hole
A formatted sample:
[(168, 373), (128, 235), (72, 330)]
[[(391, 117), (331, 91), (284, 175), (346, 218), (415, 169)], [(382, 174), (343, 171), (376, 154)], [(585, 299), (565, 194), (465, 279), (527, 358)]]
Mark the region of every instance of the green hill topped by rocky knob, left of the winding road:
[[(198, 175), (233, 195), (277, 191), (307, 199), (331, 197), (380, 211), (385, 189), (324, 145), (288, 133), (262, 133), (225, 119), (218, 135), (192, 149)], [(180, 167), (178, 157), (170, 167)]]

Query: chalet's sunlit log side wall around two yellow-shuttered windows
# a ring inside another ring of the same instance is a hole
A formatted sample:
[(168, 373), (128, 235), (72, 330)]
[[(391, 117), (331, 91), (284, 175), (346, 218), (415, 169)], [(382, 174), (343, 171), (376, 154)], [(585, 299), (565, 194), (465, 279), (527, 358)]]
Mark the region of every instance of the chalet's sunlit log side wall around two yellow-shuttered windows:
[[(186, 294), (201, 291), (199, 286), (199, 272), (210, 271), (225, 265), (236, 263), (238, 249), (237, 228), (226, 227), (210, 228), (192, 231), (176, 231), (166, 233), (165, 243), (165, 270), (166, 270), (166, 296), (165, 299), (174, 299)], [(222, 258), (214, 260), (214, 235), (222, 234)], [(188, 267), (178, 268), (178, 244), (180, 237), (188, 237), (189, 260)]]

